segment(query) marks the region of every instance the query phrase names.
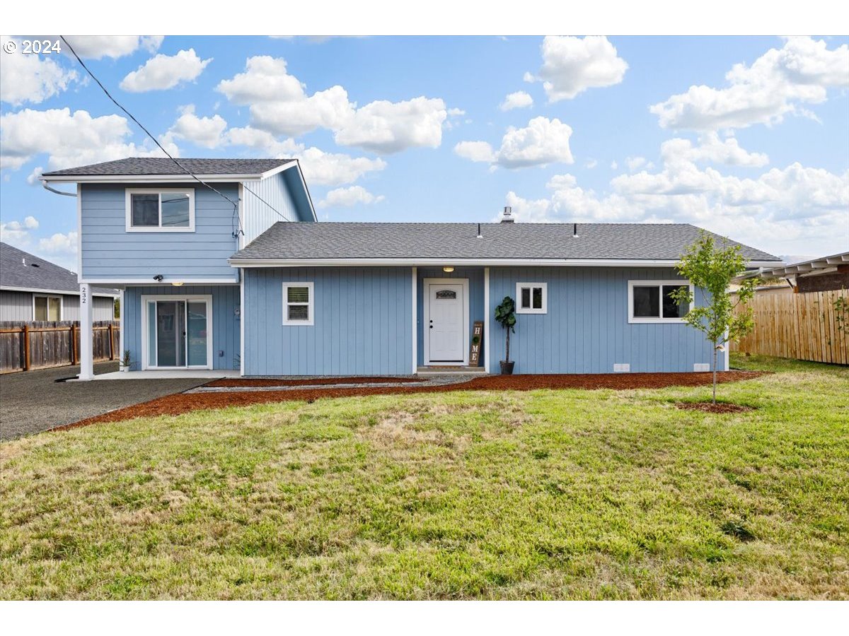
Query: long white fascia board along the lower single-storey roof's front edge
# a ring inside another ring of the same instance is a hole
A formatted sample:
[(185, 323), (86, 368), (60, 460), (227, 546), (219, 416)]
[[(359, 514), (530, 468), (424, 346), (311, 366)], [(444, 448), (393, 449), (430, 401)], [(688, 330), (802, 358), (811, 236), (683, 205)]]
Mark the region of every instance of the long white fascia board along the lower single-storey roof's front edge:
[[(673, 267), (678, 259), (228, 259), (231, 267), (345, 267), (346, 265), (481, 265), (551, 267)], [(753, 261), (751, 265), (773, 265), (774, 261)]]

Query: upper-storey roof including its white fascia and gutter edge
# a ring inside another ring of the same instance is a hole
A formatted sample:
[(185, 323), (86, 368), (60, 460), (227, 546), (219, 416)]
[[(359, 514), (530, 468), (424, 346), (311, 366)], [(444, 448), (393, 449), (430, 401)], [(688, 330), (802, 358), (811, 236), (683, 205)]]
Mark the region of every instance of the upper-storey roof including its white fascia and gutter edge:
[[(297, 165), (296, 159), (183, 159), (180, 165), (203, 181), (261, 181), (280, 170)], [(189, 178), (167, 157), (130, 157), (81, 165), (42, 174), (42, 181), (85, 182), (127, 181), (127, 177), (158, 181), (185, 181)]]

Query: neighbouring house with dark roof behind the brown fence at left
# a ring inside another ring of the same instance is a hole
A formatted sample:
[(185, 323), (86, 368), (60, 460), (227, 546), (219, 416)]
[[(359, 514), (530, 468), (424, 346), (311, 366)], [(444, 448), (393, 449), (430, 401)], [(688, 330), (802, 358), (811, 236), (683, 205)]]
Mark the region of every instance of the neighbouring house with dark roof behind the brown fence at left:
[[(117, 289), (93, 287), (93, 320), (115, 319)], [(0, 243), (0, 321), (79, 321), (76, 274)]]

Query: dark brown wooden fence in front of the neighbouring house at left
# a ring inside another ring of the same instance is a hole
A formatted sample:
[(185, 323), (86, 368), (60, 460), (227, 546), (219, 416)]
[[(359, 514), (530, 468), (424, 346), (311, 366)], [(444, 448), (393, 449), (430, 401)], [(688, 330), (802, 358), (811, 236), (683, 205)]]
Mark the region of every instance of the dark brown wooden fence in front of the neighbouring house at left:
[[(94, 360), (117, 360), (121, 333), (117, 321), (93, 323)], [(80, 323), (76, 321), (0, 322), (0, 373), (31, 371), (80, 362)]]

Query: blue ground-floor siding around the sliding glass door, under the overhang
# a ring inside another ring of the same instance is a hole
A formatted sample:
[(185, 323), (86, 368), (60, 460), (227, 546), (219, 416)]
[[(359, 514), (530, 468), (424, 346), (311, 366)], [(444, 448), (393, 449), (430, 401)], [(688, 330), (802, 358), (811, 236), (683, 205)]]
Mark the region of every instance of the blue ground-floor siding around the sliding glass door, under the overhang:
[(239, 370), (239, 285), (152, 285), (127, 286), (124, 291), (124, 348), (130, 351), (131, 371), (142, 368), (142, 296), (155, 295), (211, 295), (212, 368)]

